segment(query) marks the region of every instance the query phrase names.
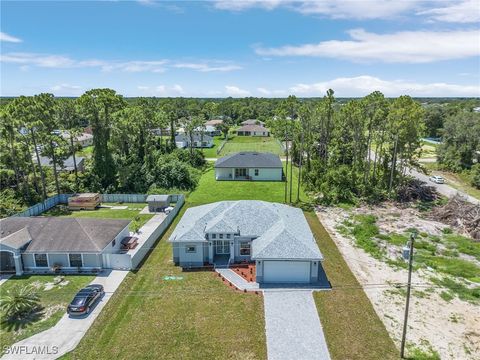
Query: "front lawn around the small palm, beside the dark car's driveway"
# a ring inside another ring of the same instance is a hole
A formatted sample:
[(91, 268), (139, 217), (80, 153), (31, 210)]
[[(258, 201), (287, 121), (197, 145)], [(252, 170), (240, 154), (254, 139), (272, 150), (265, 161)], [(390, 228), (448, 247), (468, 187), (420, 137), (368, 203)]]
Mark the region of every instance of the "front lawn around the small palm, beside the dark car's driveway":
[[(62, 275), (65, 283), (54, 283), (54, 275), (14, 276), (0, 286), (0, 298), (18, 286), (33, 285), (40, 295), (41, 309), (32, 314), (29, 319), (9, 323), (3, 313), (0, 313), (0, 353), (4, 347), (17, 341), (30, 337), (43, 330), (54, 326), (65, 314), (65, 309), (73, 296), (82, 287), (90, 283), (93, 275)], [(68, 282), (68, 283), (67, 283)], [(53, 287), (46, 290), (45, 284), (51, 283)]]

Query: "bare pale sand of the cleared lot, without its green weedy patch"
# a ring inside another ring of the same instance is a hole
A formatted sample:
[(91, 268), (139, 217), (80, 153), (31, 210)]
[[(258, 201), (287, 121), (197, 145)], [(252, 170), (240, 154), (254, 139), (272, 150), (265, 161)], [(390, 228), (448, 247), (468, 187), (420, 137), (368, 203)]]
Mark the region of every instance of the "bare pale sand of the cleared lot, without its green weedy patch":
[[(420, 219), (415, 209), (401, 209), (394, 205), (354, 211), (375, 214), (381, 232), (402, 233), (408, 228), (415, 227), (420, 232), (438, 235), (442, 228), (446, 227), (435, 221)], [(357, 248), (354, 240), (340, 234), (336, 226), (349, 218), (346, 210), (324, 208), (319, 209), (317, 215), (361, 284), (387, 284), (365, 285), (364, 289), (387, 331), (397, 346), (400, 346), (405, 308), (404, 290), (388, 284), (406, 283), (407, 271), (374, 259)], [(413, 273), (412, 283), (419, 286), (414, 287), (412, 292), (407, 342), (425, 350), (431, 346), (442, 359), (478, 359), (480, 354), (478, 305), (458, 298), (450, 302), (443, 300), (439, 296), (442, 289), (437, 288), (429, 280), (432, 275), (433, 272), (430, 270)]]

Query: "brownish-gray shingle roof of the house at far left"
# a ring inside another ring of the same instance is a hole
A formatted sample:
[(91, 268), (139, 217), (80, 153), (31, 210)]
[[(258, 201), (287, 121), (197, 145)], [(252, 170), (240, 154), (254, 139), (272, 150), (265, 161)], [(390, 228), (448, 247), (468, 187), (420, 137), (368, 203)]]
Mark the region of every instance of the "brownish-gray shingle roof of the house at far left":
[(129, 220), (61, 217), (10, 217), (0, 220), (0, 241), (28, 230), (25, 252), (100, 252)]

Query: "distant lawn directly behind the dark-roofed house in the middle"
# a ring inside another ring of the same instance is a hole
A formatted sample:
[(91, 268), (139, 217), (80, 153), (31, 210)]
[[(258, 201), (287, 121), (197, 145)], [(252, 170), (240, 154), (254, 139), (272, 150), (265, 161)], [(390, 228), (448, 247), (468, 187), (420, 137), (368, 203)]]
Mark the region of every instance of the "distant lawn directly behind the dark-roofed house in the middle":
[(220, 156), (225, 156), (239, 151), (271, 152), (280, 156), (284, 155), (280, 144), (272, 136), (234, 136), (225, 144), (220, 152)]

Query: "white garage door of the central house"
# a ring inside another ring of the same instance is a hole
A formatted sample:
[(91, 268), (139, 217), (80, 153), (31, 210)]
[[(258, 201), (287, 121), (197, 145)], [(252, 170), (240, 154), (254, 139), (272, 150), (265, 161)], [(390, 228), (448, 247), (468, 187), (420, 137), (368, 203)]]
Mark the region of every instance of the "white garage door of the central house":
[(310, 282), (308, 261), (264, 261), (263, 282)]

